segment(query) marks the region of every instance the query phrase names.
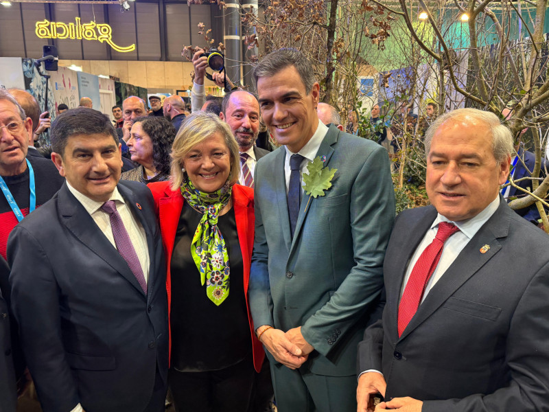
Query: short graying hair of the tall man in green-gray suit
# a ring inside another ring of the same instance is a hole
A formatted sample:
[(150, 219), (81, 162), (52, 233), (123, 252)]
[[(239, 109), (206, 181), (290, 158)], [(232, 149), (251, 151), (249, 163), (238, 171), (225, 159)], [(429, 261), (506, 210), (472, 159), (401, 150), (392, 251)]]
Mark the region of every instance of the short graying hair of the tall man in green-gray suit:
[(253, 69), (253, 78), (257, 87), (260, 77), (271, 77), (288, 66), (296, 68), (305, 85), (305, 91), (310, 93), (316, 82), (311, 62), (297, 49), (283, 48), (274, 50), (263, 58)]

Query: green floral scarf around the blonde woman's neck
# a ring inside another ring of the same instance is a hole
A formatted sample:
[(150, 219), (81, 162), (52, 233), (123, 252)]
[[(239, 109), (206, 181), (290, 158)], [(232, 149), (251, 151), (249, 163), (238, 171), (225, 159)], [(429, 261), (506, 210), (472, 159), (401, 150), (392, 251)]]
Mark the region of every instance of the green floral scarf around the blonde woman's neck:
[(202, 214), (191, 243), (191, 255), (201, 284), (206, 282), (206, 295), (217, 306), (229, 296), (229, 253), (218, 228), (218, 216), (231, 200), (231, 192), (228, 181), (213, 193), (200, 192), (189, 179), (181, 186), (185, 200)]

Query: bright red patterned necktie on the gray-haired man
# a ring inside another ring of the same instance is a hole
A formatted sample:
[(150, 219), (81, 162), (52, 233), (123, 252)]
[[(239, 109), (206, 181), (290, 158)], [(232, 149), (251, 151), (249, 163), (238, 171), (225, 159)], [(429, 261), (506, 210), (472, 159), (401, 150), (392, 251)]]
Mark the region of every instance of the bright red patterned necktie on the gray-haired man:
[(414, 314), (419, 308), (419, 303), (425, 293), (425, 286), (431, 278), (431, 275), (436, 268), (436, 265), (439, 264), (441, 260), (442, 249), (444, 247), (444, 242), (452, 236), (456, 231), (459, 231), (458, 227), (452, 225), (448, 222), (440, 222), (439, 230), (436, 231), (436, 236), (434, 237), (432, 243), (423, 250), (421, 256), (417, 260), (412, 273), (408, 278), (408, 283), (404, 288), (404, 293), (400, 299), (399, 304), (399, 319), (398, 319), (398, 328), (399, 328), (399, 337), (402, 332), (408, 326), (408, 323), (414, 317)]

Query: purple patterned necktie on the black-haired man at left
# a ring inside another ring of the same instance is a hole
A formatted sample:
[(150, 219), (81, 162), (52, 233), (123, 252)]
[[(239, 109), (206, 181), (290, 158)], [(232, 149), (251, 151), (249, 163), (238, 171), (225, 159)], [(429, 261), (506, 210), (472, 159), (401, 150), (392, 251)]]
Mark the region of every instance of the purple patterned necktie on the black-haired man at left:
[(132, 240), (124, 227), (124, 222), (116, 209), (115, 201), (106, 201), (103, 203), (101, 209), (109, 214), (110, 228), (113, 229), (113, 238), (115, 238), (116, 248), (118, 253), (126, 260), (130, 270), (134, 274), (139, 286), (143, 289), (145, 294), (147, 293), (147, 282), (145, 282), (145, 275), (143, 275), (143, 269), (137, 258), (137, 253), (132, 244)]

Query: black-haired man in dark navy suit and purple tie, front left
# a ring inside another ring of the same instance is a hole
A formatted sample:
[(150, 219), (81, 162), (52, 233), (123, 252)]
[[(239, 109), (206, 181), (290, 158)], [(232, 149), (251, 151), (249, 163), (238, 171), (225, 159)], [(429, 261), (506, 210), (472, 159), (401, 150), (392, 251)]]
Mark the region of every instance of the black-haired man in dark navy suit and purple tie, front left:
[(8, 242), (12, 308), (45, 412), (163, 411), (165, 260), (152, 195), (121, 181), (108, 117), (62, 113), (51, 155), (66, 183)]

